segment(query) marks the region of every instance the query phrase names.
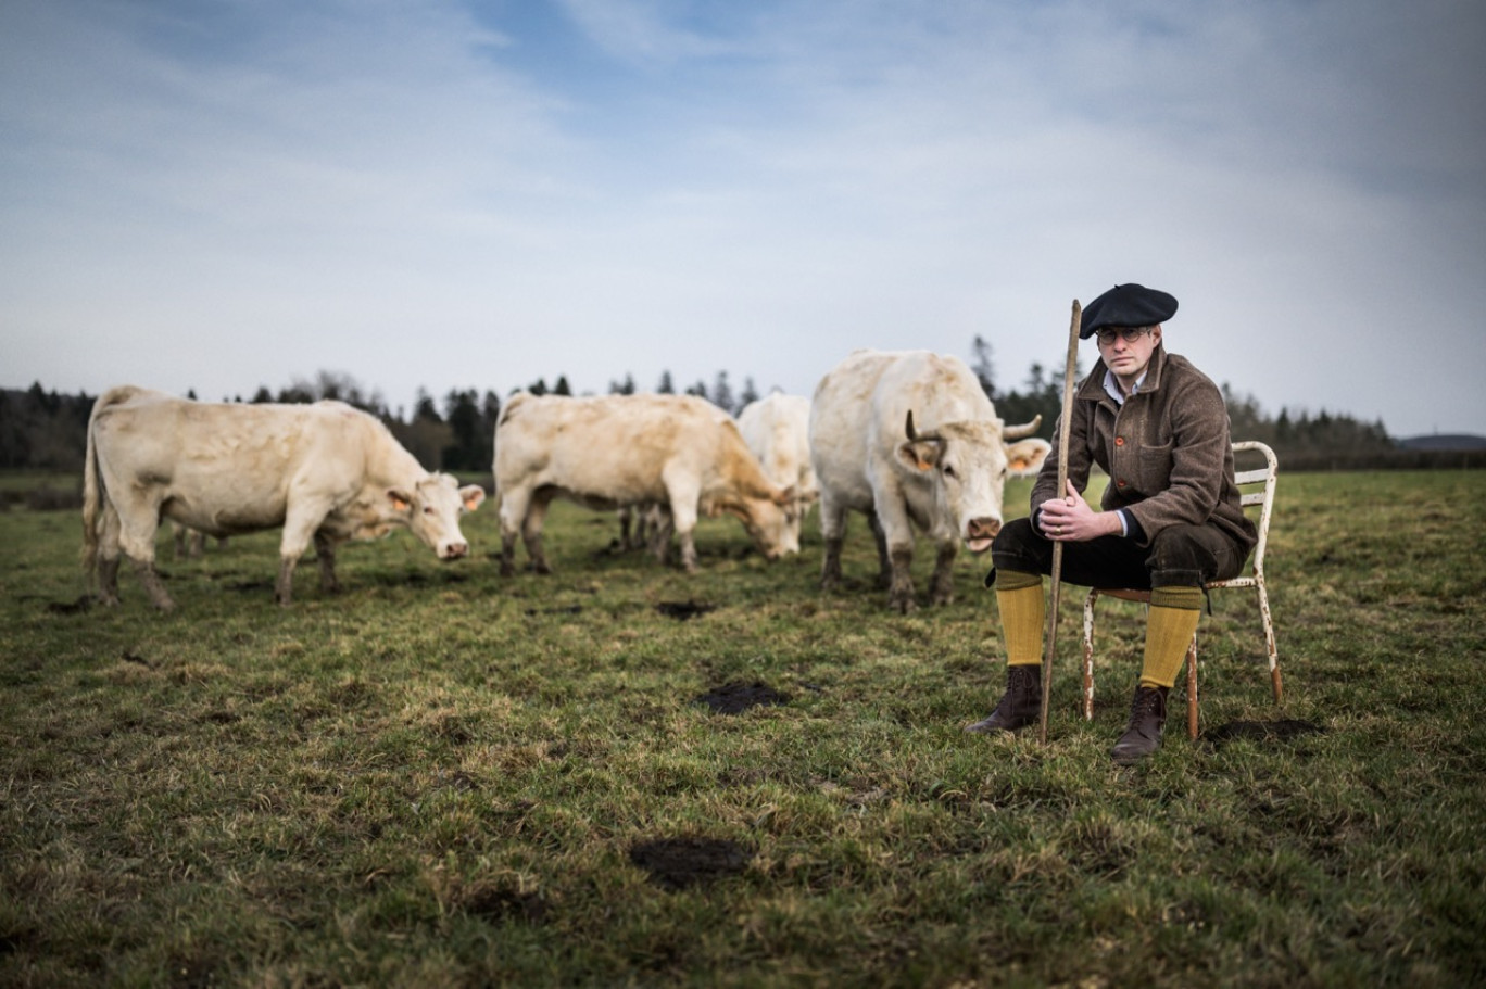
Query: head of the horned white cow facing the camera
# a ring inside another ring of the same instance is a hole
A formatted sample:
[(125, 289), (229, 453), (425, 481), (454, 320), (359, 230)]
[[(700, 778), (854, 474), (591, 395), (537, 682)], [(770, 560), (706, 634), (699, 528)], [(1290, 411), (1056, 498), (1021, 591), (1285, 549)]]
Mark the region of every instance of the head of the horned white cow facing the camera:
[[(909, 411), (898, 459), (929, 481), (935, 499), (933, 527), (957, 532), (970, 552), (990, 549), (1002, 530), (1002, 496), (1013, 462), (1006, 440), (1030, 437), (1040, 423), (1042, 416), (1022, 426), (1003, 426), (999, 419), (967, 420), (920, 434)], [(1018, 460), (1028, 453), (1034, 454), (1019, 451)], [(1046, 451), (1042, 456), (1046, 457)], [(1042, 466), (1040, 459), (1037, 466)]]

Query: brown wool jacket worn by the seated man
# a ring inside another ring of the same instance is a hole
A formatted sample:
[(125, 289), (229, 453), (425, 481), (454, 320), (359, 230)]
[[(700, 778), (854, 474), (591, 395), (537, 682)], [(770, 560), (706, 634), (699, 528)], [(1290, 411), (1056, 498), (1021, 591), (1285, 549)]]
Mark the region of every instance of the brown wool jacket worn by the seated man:
[[(1104, 359), (1073, 395), (1068, 480), (1083, 492), (1089, 469), (1110, 475), (1103, 508), (1125, 508), (1144, 529), (1141, 545), (1167, 526), (1217, 526), (1244, 552), (1257, 539), (1233, 483), (1233, 448), (1223, 394), (1184, 356), (1156, 347), (1140, 391), (1117, 405), (1104, 391)], [(1031, 492), (1031, 514), (1060, 494), (1058, 440)]]

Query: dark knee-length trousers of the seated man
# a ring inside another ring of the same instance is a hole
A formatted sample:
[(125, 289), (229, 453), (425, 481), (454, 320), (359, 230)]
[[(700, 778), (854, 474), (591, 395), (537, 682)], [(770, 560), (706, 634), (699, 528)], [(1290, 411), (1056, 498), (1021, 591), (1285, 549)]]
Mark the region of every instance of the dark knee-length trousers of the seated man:
[[(1168, 526), (1149, 546), (1123, 536), (1065, 542), (1060, 579), (1098, 588), (1202, 587), (1238, 576), (1247, 557), (1214, 526)], [(1030, 518), (1013, 518), (991, 544), (991, 563), (999, 570), (1052, 573), (1052, 541)], [(994, 578), (991, 570), (985, 585)]]

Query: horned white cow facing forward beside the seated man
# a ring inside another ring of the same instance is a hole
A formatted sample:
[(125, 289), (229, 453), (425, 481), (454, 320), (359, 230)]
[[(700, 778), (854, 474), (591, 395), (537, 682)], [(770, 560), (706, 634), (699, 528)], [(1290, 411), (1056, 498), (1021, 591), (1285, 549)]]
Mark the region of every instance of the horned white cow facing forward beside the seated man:
[[(887, 601), (914, 607), (914, 527), (939, 545), (932, 601), (954, 598), (951, 564), (963, 542), (990, 548), (1002, 527), (1009, 469), (1031, 469), (1051, 444), (1024, 440), (1042, 417), (1006, 426), (970, 368), (927, 350), (856, 350), (820, 379), (810, 411), (810, 459), (820, 478), (826, 544), (820, 585), (841, 581), (847, 511), (865, 512), (877, 538)], [(1008, 440), (1021, 440), (1008, 444)]]

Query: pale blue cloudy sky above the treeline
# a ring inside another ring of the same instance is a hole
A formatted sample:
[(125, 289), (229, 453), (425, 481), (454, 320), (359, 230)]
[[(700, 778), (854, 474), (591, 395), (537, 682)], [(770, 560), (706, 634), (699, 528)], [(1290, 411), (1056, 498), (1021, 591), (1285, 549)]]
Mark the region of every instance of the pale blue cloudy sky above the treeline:
[[(7, 0), (0, 386), (1061, 374), (1486, 434), (1477, 0)], [(1094, 361), (1083, 347), (1085, 367)]]

